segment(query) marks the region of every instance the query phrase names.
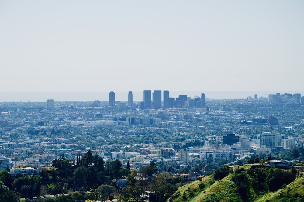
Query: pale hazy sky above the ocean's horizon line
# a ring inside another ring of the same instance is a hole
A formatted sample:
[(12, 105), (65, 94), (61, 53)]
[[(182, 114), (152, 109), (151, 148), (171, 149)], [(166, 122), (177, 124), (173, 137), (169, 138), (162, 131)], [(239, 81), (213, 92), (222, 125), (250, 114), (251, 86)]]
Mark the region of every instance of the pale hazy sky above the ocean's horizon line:
[(302, 90), (304, 1), (0, 1), (0, 91)]

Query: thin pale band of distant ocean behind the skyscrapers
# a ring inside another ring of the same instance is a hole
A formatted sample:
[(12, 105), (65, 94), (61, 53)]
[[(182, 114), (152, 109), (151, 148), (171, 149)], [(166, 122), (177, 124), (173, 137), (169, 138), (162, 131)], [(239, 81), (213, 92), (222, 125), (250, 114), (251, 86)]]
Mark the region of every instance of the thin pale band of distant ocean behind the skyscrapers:
[[(202, 93), (205, 93), (206, 99), (245, 99), (249, 96), (254, 98), (254, 94), (257, 94), (257, 97), (268, 97), (268, 94), (276, 93), (301, 93), (304, 95), (304, 91), (169, 91), (169, 97), (178, 98), (179, 95), (187, 95), (194, 98), (195, 96), (200, 97)], [(55, 101), (108, 101), (109, 92), (0, 92), (0, 102), (45, 102), (47, 99)], [(115, 92), (115, 100), (127, 101), (128, 92)], [(133, 101), (143, 101), (143, 91), (133, 91)]]

